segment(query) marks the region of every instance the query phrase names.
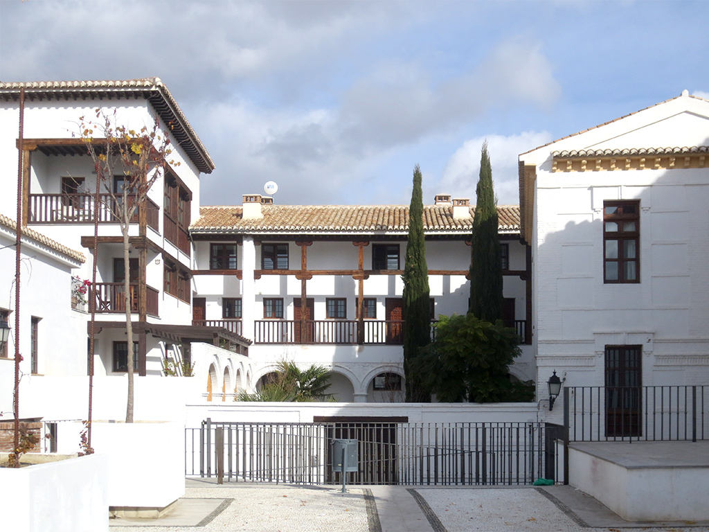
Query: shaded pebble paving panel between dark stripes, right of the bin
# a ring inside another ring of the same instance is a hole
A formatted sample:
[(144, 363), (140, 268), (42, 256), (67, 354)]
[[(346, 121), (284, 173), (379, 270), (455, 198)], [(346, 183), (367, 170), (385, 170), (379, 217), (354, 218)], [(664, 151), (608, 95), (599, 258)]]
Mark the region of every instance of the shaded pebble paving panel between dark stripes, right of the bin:
[[(420, 489), (447, 532), (620, 531), (584, 528), (535, 489)], [(643, 532), (709, 532), (705, 527), (623, 528)]]

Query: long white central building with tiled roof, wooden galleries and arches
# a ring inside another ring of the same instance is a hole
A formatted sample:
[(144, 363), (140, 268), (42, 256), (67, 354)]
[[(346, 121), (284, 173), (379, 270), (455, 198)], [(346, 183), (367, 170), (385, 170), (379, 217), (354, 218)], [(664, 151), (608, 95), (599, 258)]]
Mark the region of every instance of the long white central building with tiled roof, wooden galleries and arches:
[[(518, 208), (498, 211), (506, 321), (530, 343), (530, 261)], [(340, 401), (403, 401), (408, 206), (278, 206), (247, 194), (242, 206), (200, 212), (190, 228), (194, 323), (252, 338), (255, 384), (289, 360), (328, 367)], [(445, 194), (424, 206), (434, 318), (467, 312), (473, 212), (467, 199)], [(523, 353), (510, 372), (533, 379), (530, 345)]]

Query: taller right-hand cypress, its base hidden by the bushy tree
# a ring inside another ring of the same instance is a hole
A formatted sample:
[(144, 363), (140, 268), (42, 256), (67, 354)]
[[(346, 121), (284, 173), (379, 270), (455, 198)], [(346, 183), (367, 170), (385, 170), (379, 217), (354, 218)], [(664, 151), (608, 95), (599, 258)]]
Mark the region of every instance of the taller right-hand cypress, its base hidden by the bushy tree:
[(470, 264), (470, 308), (477, 318), (494, 323), (502, 319), (502, 264), (497, 201), (487, 141), (480, 157), (480, 179), (473, 218)]

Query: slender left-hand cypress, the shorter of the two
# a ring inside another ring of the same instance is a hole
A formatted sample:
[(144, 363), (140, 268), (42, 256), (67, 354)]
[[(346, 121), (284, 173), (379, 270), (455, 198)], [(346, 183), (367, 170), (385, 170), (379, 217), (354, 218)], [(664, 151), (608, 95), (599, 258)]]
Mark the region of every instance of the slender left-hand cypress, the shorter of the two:
[(413, 169), (411, 206), (408, 209), (406, 265), (403, 271), (403, 370), (408, 402), (430, 401), (430, 396), (421, 389), (420, 379), (411, 370), (411, 360), (418, 356), (419, 348), (431, 341), (429, 294), (426, 243), (423, 236), (421, 170), (416, 165)]

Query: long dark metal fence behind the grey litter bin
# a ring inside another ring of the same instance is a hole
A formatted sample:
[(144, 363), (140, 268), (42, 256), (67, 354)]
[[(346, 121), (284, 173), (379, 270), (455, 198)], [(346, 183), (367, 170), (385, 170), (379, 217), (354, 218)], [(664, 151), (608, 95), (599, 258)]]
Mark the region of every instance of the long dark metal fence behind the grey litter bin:
[[(187, 476), (340, 484), (335, 439), (356, 439), (348, 484), (513, 485), (553, 475), (545, 423), (219, 423), (186, 429)], [(218, 440), (223, 441), (218, 444)], [(549, 467), (552, 472), (549, 473)]]

